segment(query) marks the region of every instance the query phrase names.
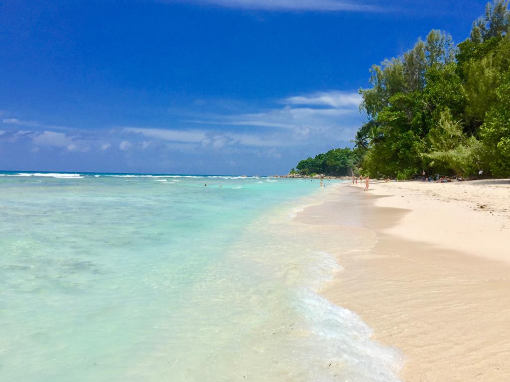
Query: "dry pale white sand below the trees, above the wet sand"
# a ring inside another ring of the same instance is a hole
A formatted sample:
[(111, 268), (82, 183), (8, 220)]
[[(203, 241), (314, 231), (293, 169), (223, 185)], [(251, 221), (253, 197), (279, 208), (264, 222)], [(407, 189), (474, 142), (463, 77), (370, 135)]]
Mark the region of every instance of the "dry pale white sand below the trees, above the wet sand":
[(386, 233), (510, 262), (510, 180), (388, 182), (371, 188), (370, 193), (390, 196), (377, 199), (376, 206), (410, 209)]

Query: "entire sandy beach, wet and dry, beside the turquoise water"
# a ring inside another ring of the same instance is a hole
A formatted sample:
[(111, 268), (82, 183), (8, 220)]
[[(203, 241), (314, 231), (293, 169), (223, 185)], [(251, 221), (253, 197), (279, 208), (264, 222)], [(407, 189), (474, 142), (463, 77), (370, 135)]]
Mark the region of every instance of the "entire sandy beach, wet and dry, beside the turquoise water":
[(321, 243), (343, 267), (323, 294), (402, 352), (402, 380), (510, 380), (510, 181), (363, 187), (296, 217), (367, 232), (360, 250)]

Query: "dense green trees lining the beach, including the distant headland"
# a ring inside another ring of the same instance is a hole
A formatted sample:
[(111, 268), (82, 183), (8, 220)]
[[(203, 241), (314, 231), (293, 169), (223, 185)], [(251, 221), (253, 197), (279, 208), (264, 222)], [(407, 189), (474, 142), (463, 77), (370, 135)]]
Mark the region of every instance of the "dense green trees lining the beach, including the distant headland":
[(510, 12), (495, 0), (455, 45), (432, 30), (402, 56), (370, 69), (361, 89), (367, 122), (354, 149), (298, 163), (303, 174), (409, 179), (427, 173), (510, 176)]

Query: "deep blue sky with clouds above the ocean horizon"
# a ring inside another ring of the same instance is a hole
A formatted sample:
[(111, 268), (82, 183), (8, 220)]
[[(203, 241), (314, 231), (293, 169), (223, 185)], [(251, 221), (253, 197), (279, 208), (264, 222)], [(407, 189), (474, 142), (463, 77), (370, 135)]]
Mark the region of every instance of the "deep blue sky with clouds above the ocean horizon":
[(372, 64), (485, 3), (0, 0), (0, 170), (286, 173), (351, 145)]

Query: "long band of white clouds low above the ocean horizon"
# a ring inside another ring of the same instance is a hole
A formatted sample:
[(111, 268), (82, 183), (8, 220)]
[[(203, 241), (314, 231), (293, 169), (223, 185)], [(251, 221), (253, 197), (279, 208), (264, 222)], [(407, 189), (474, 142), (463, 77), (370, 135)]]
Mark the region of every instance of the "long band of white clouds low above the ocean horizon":
[[(12, 140), (32, 140), (37, 146), (60, 147), (68, 152), (86, 152), (91, 148), (105, 151), (117, 142), (122, 151), (160, 148), (187, 153), (223, 150), (231, 153), (276, 148), (317, 145), (318, 141), (336, 146), (346, 144), (363, 120), (359, 113), (360, 96), (339, 90), (292, 95), (274, 100), (265, 109), (236, 104), (231, 110), (254, 110), (253, 113), (202, 115), (185, 123), (196, 128), (157, 128), (117, 126), (104, 129), (66, 129), (65, 132), (43, 128), (36, 121), (4, 119), (5, 124), (32, 126), (34, 129), (9, 133)], [(242, 107), (242, 108), (241, 108)], [(215, 110), (228, 110), (216, 108)], [(194, 113), (196, 115), (196, 112)], [(207, 125), (207, 126), (205, 126)], [(179, 125), (177, 125), (179, 126)], [(9, 129), (7, 129), (9, 132)], [(3, 131), (3, 130), (2, 130)], [(1, 131), (0, 131), (1, 133)], [(136, 150), (135, 150), (136, 151)], [(156, 151), (156, 150), (152, 150)], [(279, 152), (272, 152), (278, 158)]]

